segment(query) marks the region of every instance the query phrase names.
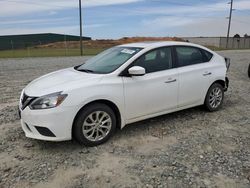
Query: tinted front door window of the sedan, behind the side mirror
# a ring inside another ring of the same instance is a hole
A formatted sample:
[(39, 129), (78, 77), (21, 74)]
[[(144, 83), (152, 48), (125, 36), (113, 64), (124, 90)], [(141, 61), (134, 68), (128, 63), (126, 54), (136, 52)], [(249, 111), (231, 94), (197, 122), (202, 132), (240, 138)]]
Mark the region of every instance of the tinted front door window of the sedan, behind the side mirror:
[(145, 68), (146, 73), (170, 69), (172, 66), (171, 48), (159, 48), (142, 55), (134, 66)]

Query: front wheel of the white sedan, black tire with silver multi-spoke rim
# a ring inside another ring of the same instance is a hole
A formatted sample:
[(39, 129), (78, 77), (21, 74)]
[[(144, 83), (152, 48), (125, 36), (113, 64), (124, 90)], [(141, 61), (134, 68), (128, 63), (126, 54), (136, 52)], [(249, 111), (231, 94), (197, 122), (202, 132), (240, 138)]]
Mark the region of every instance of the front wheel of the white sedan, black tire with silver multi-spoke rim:
[(73, 126), (73, 136), (85, 146), (97, 146), (106, 142), (115, 132), (116, 116), (113, 110), (102, 103), (83, 108)]

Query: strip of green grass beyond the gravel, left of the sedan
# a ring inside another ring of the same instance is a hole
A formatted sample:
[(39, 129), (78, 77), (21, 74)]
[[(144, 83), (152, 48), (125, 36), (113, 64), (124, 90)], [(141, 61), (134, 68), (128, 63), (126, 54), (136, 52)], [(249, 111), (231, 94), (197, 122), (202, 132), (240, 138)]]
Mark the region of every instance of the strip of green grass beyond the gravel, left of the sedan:
[[(103, 48), (83, 49), (83, 55), (96, 55)], [(27, 48), (0, 51), (0, 58), (79, 56), (79, 49)]]

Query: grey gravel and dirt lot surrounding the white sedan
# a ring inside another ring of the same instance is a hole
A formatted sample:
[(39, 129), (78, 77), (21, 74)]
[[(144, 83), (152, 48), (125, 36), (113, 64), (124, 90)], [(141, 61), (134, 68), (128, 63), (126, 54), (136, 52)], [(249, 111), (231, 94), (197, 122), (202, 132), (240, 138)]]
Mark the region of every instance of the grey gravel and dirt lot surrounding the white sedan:
[(129, 125), (106, 144), (28, 139), (21, 89), (84, 58), (0, 60), (0, 187), (250, 187), (250, 51), (232, 59), (223, 108), (197, 107)]

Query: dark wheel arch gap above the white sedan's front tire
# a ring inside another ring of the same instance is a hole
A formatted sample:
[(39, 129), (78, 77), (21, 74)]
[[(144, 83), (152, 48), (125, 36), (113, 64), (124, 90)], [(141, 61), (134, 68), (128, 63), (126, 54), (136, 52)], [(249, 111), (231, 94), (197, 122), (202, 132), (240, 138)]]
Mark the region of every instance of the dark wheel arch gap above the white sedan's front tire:
[(120, 110), (117, 107), (117, 105), (115, 103), (113, 103), (112, 101), (107, 100), (107, 99), (98, 99), (98, 100), (94, 100), (94, 101), (88, 102), (80, 110), (78, 110), (77, 114), (74, 117), (73, 124), (72, 124), (72, 130), (71, 130), (72, 138), (73, 138), (73, 129), (74, 129), (76, 118), (79, 116), (79, 114), (80, 114), (80, 112), (82, 110), (84, 110), (89, 105), (92, 105), (92, 104), (95, 104), (95, 103), (101, 103), (101, 104), (105, 104), (105, 105), (109, 106), (114, 111), (114, 113), (115, 113), (116, 120), (117, 120), (117, 128), (121, 129), (122, 119), (121, 119)]

